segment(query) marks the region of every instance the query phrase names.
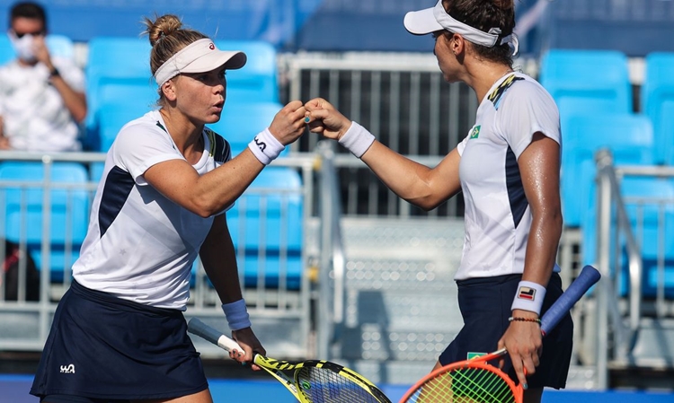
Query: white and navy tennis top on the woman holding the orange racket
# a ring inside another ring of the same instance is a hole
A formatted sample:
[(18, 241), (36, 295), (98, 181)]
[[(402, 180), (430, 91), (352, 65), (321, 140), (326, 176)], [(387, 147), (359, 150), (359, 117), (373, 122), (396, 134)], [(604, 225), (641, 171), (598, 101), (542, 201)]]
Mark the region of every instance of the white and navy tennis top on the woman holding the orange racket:
[[(523, 272), (531, 212), (518, 158), (537, 132), (561, 150), (559, 111), (550, 94), (526, 74), (508, 74), (494, 83), (474, 127), (457, 146), (466, 205), (457, 280)], [(557, 265), (554, 269), (559, 271)]]

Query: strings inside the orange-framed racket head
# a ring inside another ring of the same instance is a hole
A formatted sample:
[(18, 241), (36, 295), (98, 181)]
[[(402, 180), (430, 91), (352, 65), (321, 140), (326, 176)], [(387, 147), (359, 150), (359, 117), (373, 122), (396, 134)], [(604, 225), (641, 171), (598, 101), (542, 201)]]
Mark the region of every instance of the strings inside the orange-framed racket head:
[(407, 402), (514, 403), (516, 398), (498, 374), (482, 368), (461, 368), (427, 381)]

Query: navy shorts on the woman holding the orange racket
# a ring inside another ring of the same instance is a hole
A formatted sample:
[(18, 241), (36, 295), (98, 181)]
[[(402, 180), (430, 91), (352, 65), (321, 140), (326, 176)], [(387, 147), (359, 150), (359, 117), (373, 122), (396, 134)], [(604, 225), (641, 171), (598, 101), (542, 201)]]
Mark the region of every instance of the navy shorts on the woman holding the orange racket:
[[(491, 353), (498, 349), (498, 342), (510, 325), (510, 306), (519, 280), (521, 275), (457, 281), (458, 305), (464, 327), (440, 355), (440, 364), (466, 360), (468, 353)], [(562, 280), (554, 273), (547, 285), (542, 314), (562, 293)], [(571, 315), (567, 314), (543, 338), (543, 355), (536, 373), (527, 377), (528, 387), (563, 388), (571, 363), (572, 346), (573, 322)], [(504, 371), (517, 380), (509, 357), (506, 357)]]

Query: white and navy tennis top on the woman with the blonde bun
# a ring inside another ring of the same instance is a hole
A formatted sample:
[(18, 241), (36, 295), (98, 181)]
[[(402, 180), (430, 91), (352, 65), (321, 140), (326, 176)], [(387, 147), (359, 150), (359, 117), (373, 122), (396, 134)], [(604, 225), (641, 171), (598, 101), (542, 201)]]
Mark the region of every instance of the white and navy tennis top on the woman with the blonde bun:
[[(143, 178), (159, 162), (182, 159), (157, 111), (122, 127), (93, 199), (75, 280), (87, 288), (159, 308), (185, 310), (191, 267), (213, 223), (164, 197)], [(231, 159), (229, 144), (204, 129), (201, 175)]]

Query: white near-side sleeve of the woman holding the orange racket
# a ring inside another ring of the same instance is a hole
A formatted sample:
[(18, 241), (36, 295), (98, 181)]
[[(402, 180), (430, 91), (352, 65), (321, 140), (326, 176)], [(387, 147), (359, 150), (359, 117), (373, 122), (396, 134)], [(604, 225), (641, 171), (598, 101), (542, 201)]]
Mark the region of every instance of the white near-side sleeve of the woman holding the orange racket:
[(518, 158), (537, 132), (562, 145), (557, 105), (537, 83), (513, 85), (501, 103), (497, 121), (501, 136)]

